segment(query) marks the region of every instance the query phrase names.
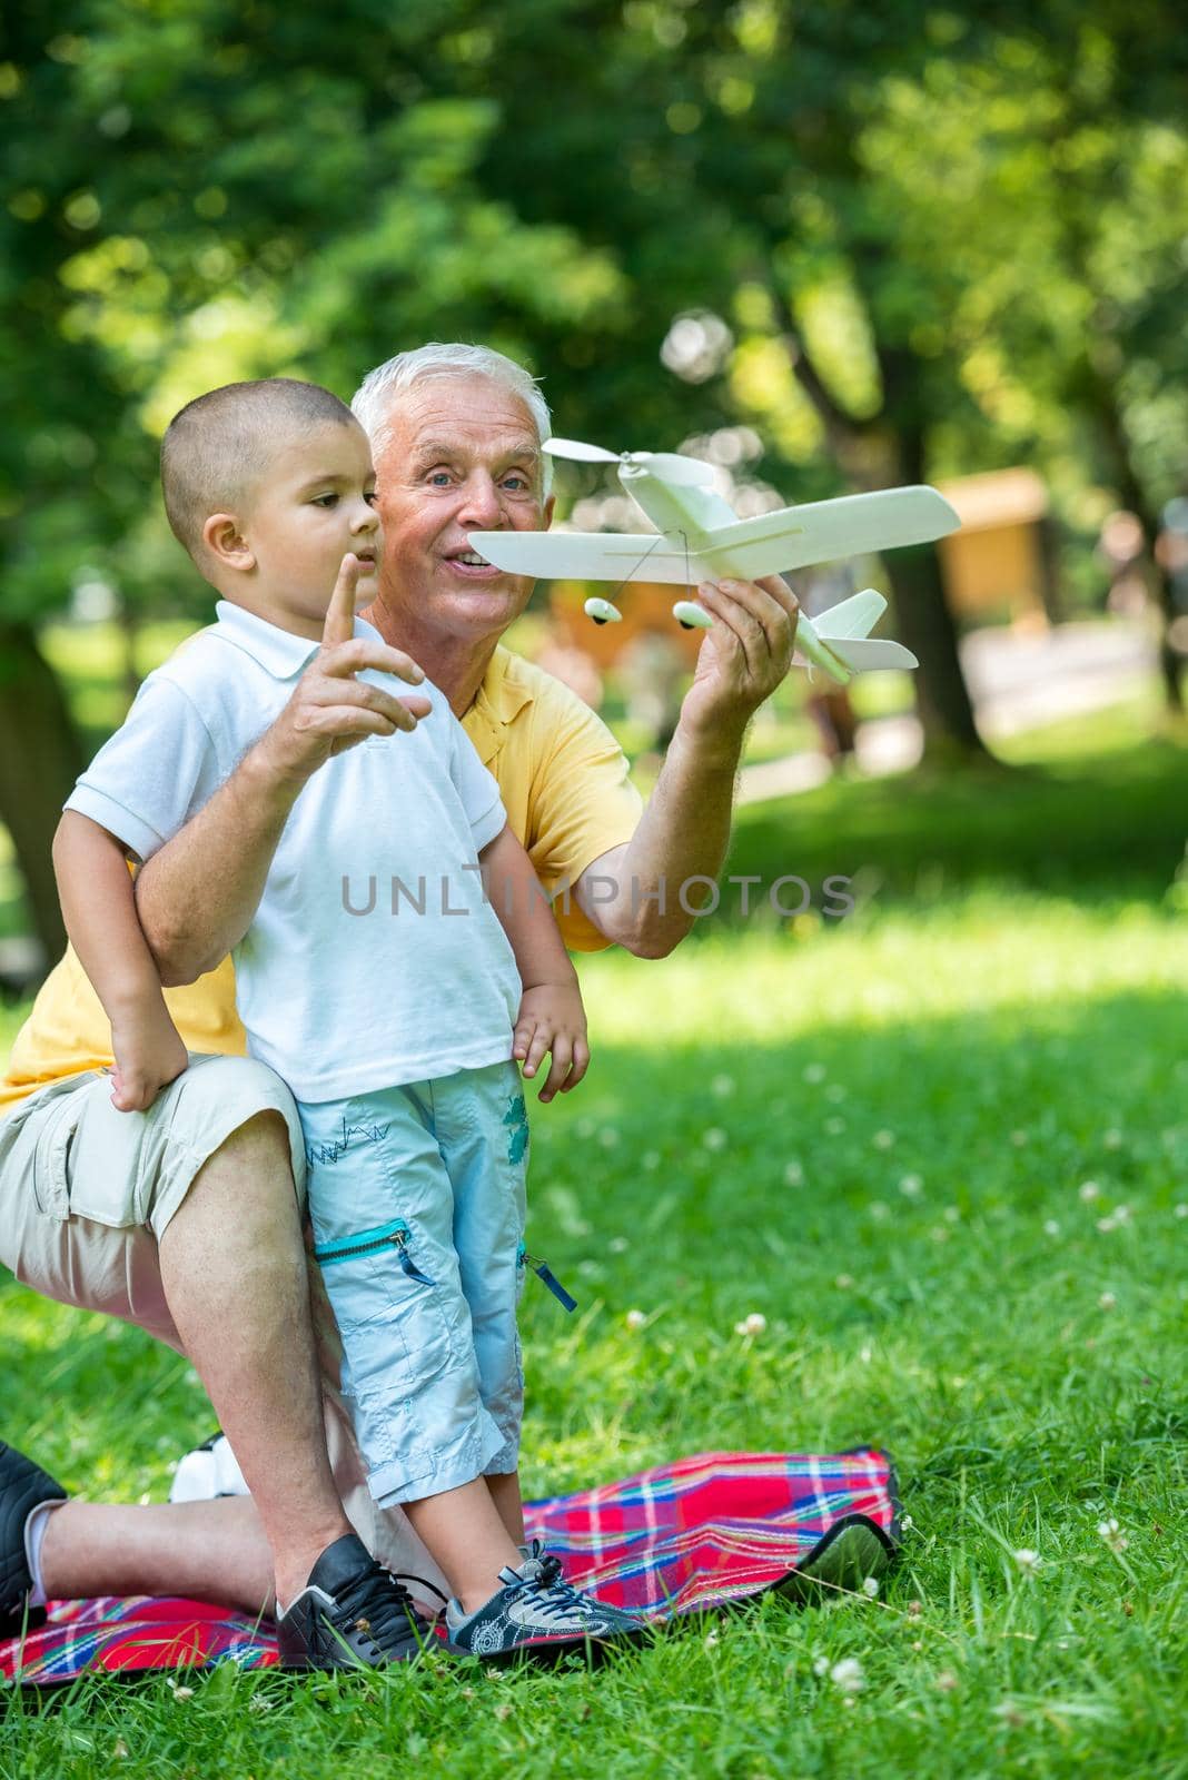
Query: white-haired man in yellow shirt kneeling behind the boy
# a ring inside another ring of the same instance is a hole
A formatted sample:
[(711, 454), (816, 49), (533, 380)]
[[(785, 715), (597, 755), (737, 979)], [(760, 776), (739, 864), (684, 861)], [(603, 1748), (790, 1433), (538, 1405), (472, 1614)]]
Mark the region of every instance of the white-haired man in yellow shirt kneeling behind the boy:
[[(747, 723), (791, 662), (793, 596), (779, 580), (699, 591), (715, 623), (640, 810), (601, 721), (500, 646), (532, 584), (468, 541), (550, 523), (550, 417), (534, 379), (484, 347), (429, 345), (372, 372), (354, 409), (372, 438), (386, 538), (363, 616), (448, 696), (541, 883), (560, 897), (567, 943), (665, 956), (694, 920), (678, 886), (722, 865)], [(107, 1022), (68, 954), (0, 1089), (14, 1102), (0, 1118), (0, 1260), (36, 1290), (187, 1353), (253, 1497), (50, 1511), (64, 1492), (0, 1447), (0, 1632), (5, 1613), (18, 1623), (43, 1593), (167, 1591), (253, 1611), (274, 1590), (292, 1600), (350, 1522), (389, 1568), (434, 1575), (404, 1517), (370, 1502), (333, 1383), (331, 1470), (301, 1235), (304, 1157), (286, 1089), (240, 1056), (228, 963), (301, 787), (361, 721), (386, 735), (400, 726), (391, 698), (349, 668), (318, 651), (237, 773), (139, 874), (162, 979), (190, 984), (171, 991), (171, 1013), (192, 1059), (206, 1061), (148, 1114), (116, 1112), (101, 1073)], [(333, 1380), (333, 1351), (322, 1372)], [(518, 1501), (500, 1511), (519, 1524)], [(365, 1657), (384, 1659), (382, 1648)]]

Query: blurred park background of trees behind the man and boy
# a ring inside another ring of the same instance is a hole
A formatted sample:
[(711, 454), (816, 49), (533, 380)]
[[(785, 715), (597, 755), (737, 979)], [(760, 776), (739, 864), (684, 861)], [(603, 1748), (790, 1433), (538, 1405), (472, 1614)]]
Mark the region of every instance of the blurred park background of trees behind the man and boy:
[[(23, 5), (0, 50), (9, 997), (62, 943), (62, 797), (210, 619), (160, 511), (165, 422), (235, 377), (350, 397), (430, 338), (530, 365), (558, 433), (704, 456), (742, 514), (916, 481), (962, 514), (939, 548), (797, 578), (809, 611), (880, 587), (921, 671), (852, 698), (790, 678), (731, 870), (1174, 915), (1183, 61), (1158, 0)], [(562, 523), (637, 523), (601, 468), (558, 493)], [(539, 586), (509, 641), (647, 789), (697, 639), (670, 593), (596, 630), (585, 591)]]

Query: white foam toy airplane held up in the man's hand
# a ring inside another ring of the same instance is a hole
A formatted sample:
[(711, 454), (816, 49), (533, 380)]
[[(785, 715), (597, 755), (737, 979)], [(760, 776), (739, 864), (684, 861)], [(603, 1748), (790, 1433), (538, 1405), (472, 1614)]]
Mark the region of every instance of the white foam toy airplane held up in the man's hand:
[[(546, 440), (551, 457), (617, 463), (619, 481), (654, 532), (470, 532), (475, 552), (507, 575), (548, 580), (660, 580), (694, 587), (701, 580), (754, 580), (809, 562), (923, 545), (957, 530), (960, 520), (935, 488), (884, 488), (843, 495), (806, 507), (781, 507), (740, 520), (710, 486), (713, 465), (679, 452), (612, 452), (582, 440)], [(797, 653), (845, 685), (871, 668), (918, 668), (902, 643), (871, 637), (887, 602), (873, 587), (823, 612), (816, 623), (800, 612)], [(598, 625), (622, 612), (610, 602), (585, 602)], [(713, 623), (704, 605), (678, 600), (672, 616), (686, 630)]]

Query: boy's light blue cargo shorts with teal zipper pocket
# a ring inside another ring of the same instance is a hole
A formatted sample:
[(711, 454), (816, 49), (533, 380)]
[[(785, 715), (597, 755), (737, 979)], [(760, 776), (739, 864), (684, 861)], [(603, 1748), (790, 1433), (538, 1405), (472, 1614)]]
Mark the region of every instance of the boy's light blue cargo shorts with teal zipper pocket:
[(391, 1508), (516, 1470), (528, 1169), (518, 1066), (299, 1112), (372, 1495)]

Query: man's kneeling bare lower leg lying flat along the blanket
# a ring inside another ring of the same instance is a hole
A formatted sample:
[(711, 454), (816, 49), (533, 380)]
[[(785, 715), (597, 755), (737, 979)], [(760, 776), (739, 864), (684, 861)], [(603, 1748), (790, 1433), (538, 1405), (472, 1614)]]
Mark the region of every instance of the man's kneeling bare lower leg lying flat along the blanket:
[(185, 1595), (272, 1611), (272, 1552), (247, 1495), (148, 1508), (66, 1502), (46, 1520), (41, 1581), (50, 1600)]

